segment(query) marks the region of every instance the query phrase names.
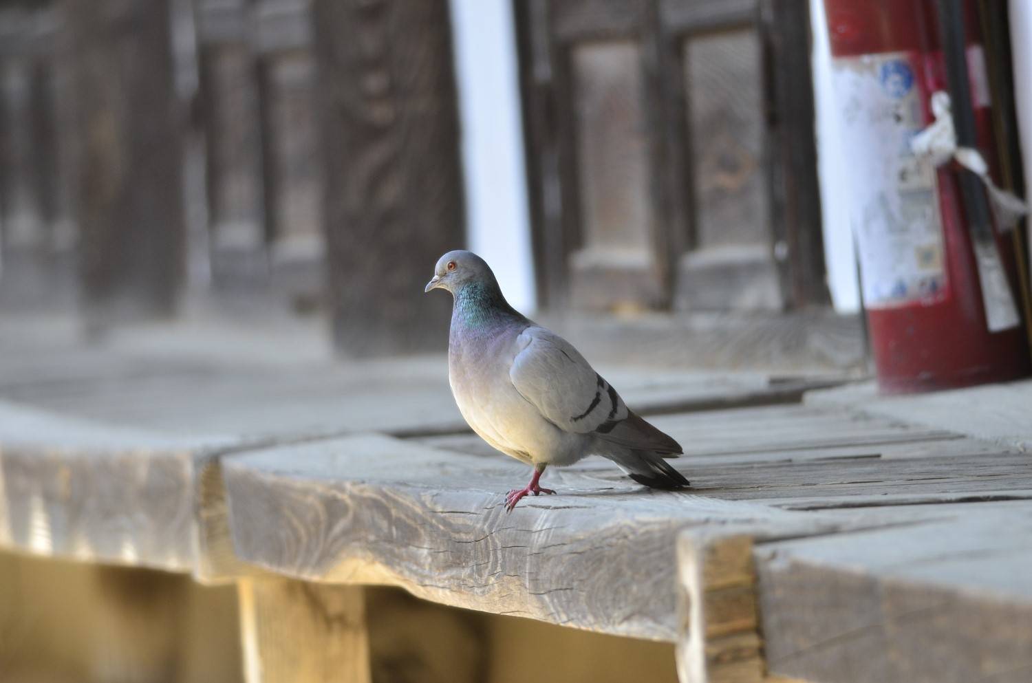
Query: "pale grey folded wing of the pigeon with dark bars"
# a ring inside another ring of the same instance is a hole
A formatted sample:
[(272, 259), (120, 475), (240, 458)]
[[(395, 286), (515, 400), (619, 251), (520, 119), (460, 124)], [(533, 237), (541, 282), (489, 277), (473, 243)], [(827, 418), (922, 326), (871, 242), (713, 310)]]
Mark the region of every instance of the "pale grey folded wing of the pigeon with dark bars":
[(573, 346), (542, 327), (517, 337), (509, 378), (523, 398), (563, 431), (594, 433), (632, 449), (681, 453), (673, 438), (627, 410)]

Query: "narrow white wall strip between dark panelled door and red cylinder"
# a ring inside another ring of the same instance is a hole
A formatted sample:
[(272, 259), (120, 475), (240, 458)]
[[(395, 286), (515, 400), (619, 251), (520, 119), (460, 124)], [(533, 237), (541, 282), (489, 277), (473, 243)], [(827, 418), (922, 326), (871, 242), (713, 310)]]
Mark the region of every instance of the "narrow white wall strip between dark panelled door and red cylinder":
[(824, 223), (825, 261), (832, 303), (839, 313), (860, 310), (860, 286), (852, 230), (849, 227), (848, 183), (835, 113), (831, 46), (824, 0), (810, 0), (813, 30), (813, 102), (817, 134), (817, 177), (820, 182), (820, 217)]

